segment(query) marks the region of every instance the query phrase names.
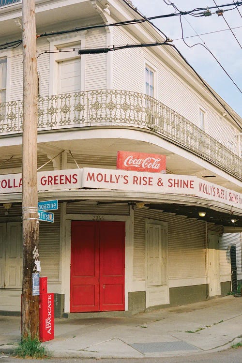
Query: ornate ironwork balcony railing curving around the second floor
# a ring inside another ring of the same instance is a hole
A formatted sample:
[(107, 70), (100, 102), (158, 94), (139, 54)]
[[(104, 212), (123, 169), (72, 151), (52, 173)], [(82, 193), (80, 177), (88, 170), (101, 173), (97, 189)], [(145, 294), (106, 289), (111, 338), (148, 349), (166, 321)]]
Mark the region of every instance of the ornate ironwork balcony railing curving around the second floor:
[[(0, 134), (22, 131), (22, 101), (0, 104)], [(97, 90), (38, 98), (38, 128), (128, 125), (152, 130), (242, 179), (242, 159), (191, 121), (145, 94)]]

